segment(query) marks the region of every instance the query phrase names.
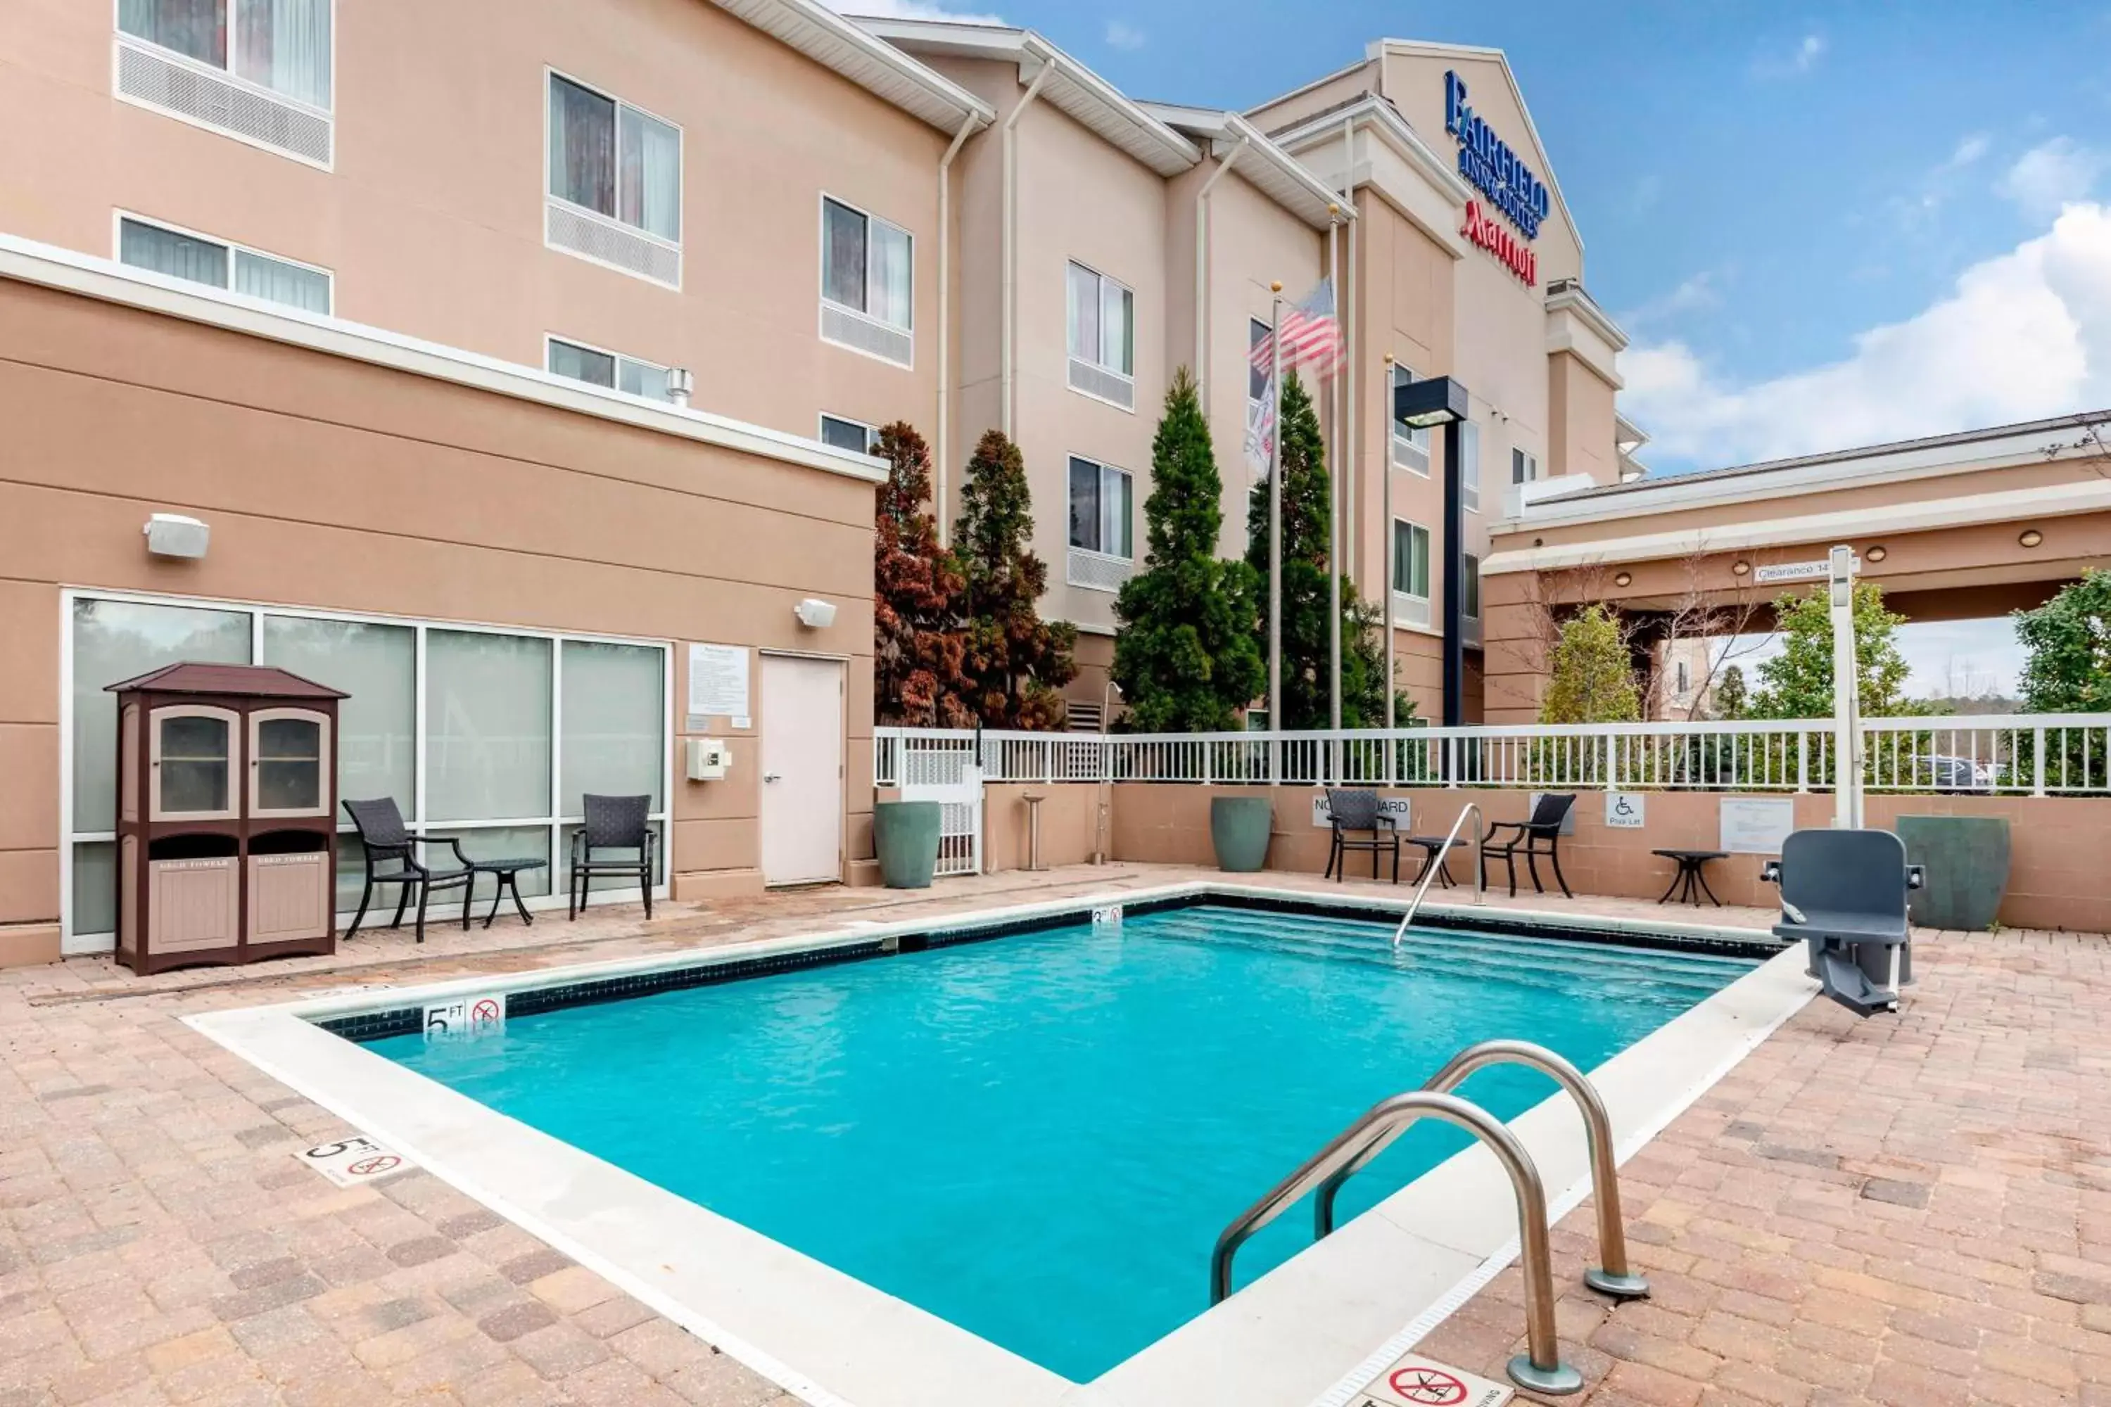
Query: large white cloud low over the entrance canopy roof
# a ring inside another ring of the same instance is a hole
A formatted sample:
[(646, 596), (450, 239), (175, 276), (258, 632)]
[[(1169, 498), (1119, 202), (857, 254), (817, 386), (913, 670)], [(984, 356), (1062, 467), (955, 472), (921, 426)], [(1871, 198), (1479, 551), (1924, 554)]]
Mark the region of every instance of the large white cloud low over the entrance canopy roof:
[(2111, 209), (2067, 207), (1830, 365), (1739, 384), (1670, 340), (1630, 346), (1619, 371), (1651, 449), (1704, 466), (2111, 405)]

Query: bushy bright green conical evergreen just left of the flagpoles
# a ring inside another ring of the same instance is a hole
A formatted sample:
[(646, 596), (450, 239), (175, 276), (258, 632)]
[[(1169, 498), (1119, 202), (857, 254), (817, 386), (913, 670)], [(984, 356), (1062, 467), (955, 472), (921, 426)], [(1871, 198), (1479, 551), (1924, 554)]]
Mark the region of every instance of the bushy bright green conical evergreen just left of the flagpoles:
[(1121, 586), (1115, 683), (1136, 732), (1226, 732), (1267, 688), (1254, 641), (1254, 572), (1220, 561), (1224, 481), (1186, 367), (1150, 441), (1144, 570)]

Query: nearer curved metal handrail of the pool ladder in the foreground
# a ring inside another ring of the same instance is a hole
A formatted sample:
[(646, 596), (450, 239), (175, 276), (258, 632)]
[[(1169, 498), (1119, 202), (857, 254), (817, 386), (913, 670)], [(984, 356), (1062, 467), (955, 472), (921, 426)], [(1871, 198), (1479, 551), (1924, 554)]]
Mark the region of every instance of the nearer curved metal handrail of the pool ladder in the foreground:
[(1518, 1196), (1518, 1247), (1524, 1261), (1524, 1344), (1526, 1352), (1509, 1361), (1509, 1377), (1535, 1392), (1581, 1392), (1583, 1375), (1560, 1361), (1554, 1337), (1554, 1272), (1547, 1257), (1547, 1194), (1539, 1181), (1533, 1156), (1524, 1152), (1499, 1118), (1459, 1095), (1410, 1091), (1381, 1099), (1362, 1118), (1343, 1129), (1313, 1154), (1305, 1167), (1286, 1177), (1258, 1202), (1239, 1213), (1210, 1253), (1210, 1304), (1231, 1295), (1231, 1257), (1262, 1226), (1283, 1215), (1292, 1202), (1319, 1186), (1336, 1169), (1353, 1160), (1374, 1137), (1387, 1137), (1421, 1118), (1438, 1118), (1465, 1129), (1488, 1145), (1509, 1188)]

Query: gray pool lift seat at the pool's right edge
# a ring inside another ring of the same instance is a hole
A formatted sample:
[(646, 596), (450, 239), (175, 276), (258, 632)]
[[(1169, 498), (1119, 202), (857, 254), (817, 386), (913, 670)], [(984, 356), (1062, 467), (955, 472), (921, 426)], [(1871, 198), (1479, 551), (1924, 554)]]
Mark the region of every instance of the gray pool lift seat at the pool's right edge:
[(1773, 934), (1811, 945), (1811, 977), (1826, 996), (1858, 1017), (1898, 1010), (1898, 989), (1913, 981), (1906, 894), (1921, 888), (1906, 842), (1891, 831), (1794, 831), (1765, 873), (1782, 886)]

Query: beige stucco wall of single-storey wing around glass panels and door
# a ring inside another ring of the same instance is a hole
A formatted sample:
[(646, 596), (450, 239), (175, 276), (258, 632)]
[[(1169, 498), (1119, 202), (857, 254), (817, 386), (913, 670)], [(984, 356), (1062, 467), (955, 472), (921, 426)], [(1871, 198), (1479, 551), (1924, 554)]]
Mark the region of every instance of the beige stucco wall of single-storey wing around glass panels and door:
[[(836, 654), (872, 854), (870, 483), (21, 283), (0, 325), (0, 962), (57, 953), (61, 586)], [(156, 510), (211, 553), (148, 557)], [(676, 770), (678, 897), (760, 888), (758, 743)]]

